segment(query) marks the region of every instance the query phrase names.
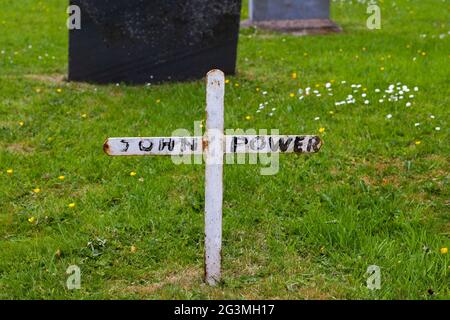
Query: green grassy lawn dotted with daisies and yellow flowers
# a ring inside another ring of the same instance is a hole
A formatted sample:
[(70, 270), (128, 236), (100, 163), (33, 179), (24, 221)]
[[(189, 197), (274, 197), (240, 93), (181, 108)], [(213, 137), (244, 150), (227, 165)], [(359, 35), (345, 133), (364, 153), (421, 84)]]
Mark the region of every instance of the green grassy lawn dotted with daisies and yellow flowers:
[[(63, 81), (66, 5), (2, 1), (0, 299), (450, 299), (448, 2), (380, 1), (375, 31), (357, 1), (332, 2), (341, 34), (241, 31), (225, 127), (322, 128), (325, 144), (281, 156), (275, 176), (225, 166), (215, 288), (202, 282), (204, 166), (102, 151), (108, 136), (193, 131), (204, 81)], [(70, 265), (80, 290), (65, 287)]]

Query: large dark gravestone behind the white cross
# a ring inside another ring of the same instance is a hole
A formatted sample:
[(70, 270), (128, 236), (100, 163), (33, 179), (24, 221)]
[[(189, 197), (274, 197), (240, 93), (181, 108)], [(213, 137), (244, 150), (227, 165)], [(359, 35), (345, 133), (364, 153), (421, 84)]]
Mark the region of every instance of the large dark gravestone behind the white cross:
[(148, 83), (233, 74), (241, 0), (71, 0), (69, 80)]

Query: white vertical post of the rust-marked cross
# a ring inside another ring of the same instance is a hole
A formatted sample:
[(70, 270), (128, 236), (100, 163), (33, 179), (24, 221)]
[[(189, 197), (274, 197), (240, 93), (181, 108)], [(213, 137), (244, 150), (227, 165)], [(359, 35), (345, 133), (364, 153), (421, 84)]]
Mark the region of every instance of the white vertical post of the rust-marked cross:
[(205, 155), (205, 281), (220, 281), (222, 256), (223, 127), (225, 76), (220, 70), (207, 75)]

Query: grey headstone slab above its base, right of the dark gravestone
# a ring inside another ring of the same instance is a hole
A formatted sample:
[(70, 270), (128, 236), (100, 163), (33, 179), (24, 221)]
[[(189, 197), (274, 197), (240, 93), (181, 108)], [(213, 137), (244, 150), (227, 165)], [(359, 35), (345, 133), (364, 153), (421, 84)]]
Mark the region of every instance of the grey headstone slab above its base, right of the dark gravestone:
[(329, 19), (330, 0), (250, 0), (250, 20)]

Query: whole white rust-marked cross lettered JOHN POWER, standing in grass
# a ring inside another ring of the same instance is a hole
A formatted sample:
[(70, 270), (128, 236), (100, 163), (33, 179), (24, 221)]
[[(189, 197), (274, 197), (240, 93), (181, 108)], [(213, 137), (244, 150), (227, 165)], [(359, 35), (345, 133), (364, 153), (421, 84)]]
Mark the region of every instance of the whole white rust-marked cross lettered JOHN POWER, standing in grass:
[(203, 154), (205, 172), (205, 281), (220, 281), (222, 255), (223, 155), (225, 153), (314, 153), (317, 136), (224, 136), (225, 77), (207, 75), (206, 133), (203, 137), (109, 138), (103, 150), (110, 156)]

